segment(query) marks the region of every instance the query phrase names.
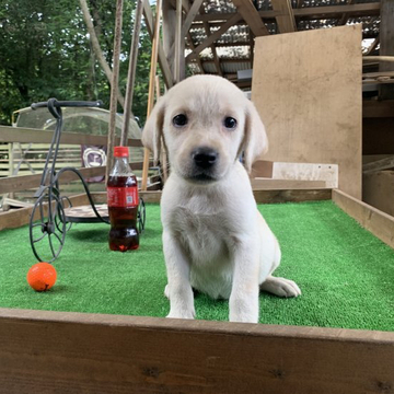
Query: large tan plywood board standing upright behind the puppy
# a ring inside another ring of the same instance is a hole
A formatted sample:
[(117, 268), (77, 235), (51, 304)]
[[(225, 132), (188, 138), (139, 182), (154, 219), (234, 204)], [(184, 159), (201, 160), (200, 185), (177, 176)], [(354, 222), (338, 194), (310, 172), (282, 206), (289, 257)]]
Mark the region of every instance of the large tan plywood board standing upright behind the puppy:
[(361, 198), (361, 25), (256, 38), (252, 101), (275, 162), (339, 165)]

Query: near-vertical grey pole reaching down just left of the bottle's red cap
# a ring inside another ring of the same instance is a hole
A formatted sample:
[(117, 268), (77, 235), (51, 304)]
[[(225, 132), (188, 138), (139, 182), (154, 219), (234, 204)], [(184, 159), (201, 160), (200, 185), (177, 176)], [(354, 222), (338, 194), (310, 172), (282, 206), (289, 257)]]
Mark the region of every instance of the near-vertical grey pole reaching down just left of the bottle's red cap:
[(114, 36), (113, 79), (111, 82), (107, 165), (106, 165), (106, 171), (105, 171), (105, 179), (108, 179), (108, 175), (113, 167), (113, 162), (114, 162), (117, 89), (118, 89), (118, 80), (119, 80), (119, 57), (120, 57), (120, 45), (121, 45), (121, 14), (123, 14), (123, 0), (117, 0), (116, 1), (116, 16), (115, 16), (115, 36)]

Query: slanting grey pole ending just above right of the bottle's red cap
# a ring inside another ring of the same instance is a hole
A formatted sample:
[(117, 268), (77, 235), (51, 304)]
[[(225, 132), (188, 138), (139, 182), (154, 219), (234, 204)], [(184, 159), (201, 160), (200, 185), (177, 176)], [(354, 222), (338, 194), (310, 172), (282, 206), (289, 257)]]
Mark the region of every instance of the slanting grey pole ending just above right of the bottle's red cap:
[(128, 130), (129, 130), (129, 126), (130, 126), (132, 93), (134, 93), (134, 85), (135, 85), (135, 81), (136, 81), (138, 44), (139, 44), (139, 35), (140, 35), (140, 31), (141, 31), (142, 10), (143, 10), (143, 0), (137, 0), (135, 28), (132, 32), (132, 40), (131, 40), (131, 47), (130, 47), (130, 60), (129, 60), (129, 68), (128, 68), (128, 76), (127, 76), (125, 113), (124, 113), (124, 121), (123, 121), (121, 136), (120, 136), (120, 144), (121, 146), (127, 144), (127, 136), (128, 136)]

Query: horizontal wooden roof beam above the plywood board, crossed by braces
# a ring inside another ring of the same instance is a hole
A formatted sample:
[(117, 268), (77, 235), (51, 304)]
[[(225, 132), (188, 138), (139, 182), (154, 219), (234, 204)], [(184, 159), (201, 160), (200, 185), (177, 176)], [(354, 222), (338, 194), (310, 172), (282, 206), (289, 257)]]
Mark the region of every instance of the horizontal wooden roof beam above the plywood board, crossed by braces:
[[(344, 13), (347, 13), (349, 18), (354, 16), (379, 16), (381, 4), (380, 2), (358, 3), (358, 4), (345, 4), (345, 5), (324, 5), (324, 7), (302, 7), (293, 10), (294, 18), (305, 20), (321, 20), (339, 18)], [(228, 13), (208, 13), (199, 14), (195, 18), (195, 23), (207, 21), (228, 21), (234, 16), (234, 12)], [(258, 11), (262, 19), (273, 21), (280, 14), (278, 11)]]

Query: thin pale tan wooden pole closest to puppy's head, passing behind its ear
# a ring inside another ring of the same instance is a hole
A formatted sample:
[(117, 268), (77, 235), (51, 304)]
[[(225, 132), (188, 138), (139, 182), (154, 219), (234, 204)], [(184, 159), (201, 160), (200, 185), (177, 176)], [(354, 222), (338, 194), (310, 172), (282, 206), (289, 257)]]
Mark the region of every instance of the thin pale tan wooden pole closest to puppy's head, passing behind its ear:
[[(149, 74), (149, 93), (148, 93), (148, 108), (147, 108), (147, 118), (151, 114), (154, 104), (154, 78), (158, 69), (158, 51), (159, 51), (159, 40), (160, 40), (160, 14), (161, 14), (162, 0), (157, 2), (157, 12), (154, 21), (154, 32), (152, 38), (152, 54), (151, 54), (151, 68)], [(148, 186), (148, 170), (149, 170), (149, 157), (150, 151), (148, 148), (143, 150), (143, 167), (142, 167), (142, 190), (147, 190)]]

